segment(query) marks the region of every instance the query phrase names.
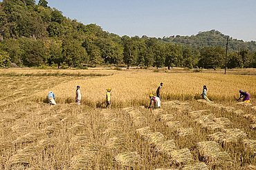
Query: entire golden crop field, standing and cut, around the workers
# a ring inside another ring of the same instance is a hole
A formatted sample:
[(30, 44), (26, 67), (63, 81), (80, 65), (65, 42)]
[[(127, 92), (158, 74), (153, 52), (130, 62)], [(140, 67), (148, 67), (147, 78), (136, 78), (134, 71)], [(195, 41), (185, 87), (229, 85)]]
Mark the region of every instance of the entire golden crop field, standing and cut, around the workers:
[[(256, 77), (246, 71), (0, 70), (0, 169), (255, 169)], [(161, 82), (161, 108), (149, 109)], [(235, 100), (239, 89), (250, 104)]]

